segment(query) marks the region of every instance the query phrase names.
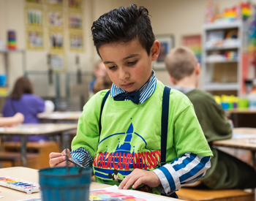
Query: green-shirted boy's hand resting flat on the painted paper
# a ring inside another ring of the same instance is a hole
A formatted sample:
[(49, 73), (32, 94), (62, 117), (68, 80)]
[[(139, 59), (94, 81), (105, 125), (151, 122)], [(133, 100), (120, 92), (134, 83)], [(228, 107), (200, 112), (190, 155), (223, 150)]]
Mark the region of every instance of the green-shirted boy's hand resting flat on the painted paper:
[(135, 169), (124, 178), (118, 189), (128, 189), (129, 186), (132, 186), (132, 189), (136, 189), (140, 184), (157, 187), (161, 184), (161, 181), (153, 171)]

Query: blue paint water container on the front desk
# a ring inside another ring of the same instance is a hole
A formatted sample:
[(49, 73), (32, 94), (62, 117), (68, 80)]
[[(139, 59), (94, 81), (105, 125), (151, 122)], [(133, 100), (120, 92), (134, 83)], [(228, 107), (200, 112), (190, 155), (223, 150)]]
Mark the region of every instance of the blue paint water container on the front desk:
[(42, 201), (88, 201), (91, 167), (53, 167), (39, 170)]

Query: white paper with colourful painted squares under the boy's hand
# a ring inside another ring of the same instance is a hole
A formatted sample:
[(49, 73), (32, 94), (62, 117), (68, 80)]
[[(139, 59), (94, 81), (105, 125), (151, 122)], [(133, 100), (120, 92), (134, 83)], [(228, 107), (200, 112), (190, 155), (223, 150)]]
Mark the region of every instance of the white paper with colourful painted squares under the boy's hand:
[[(100, 197), (97, 197), (98, 194), (100, 194)], [(105, 199), (103, 197), (105, 197)], [(133, 198), (133, 200), (138, 201), (169, 201), (169, 199), (166, 199), (165, 197), (157, 197), (154, 196), (154, 194), (145, 194), (135, 190), (120, 190), (116, 185), (105, 189), (90, 191), (89, 200), (110, 200), (110, 197), (120, 197), (120, 200)]]

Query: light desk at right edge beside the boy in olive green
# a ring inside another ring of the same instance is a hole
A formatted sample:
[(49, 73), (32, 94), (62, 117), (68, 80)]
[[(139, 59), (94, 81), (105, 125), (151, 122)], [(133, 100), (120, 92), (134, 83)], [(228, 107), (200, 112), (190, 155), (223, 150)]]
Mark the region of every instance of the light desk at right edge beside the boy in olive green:
[(233, 134), (244, 134), (244, 137), (214, 141), (213, 145), (222, 146), (222, 147), (230, 147), (230, 148), (242, 148), (242, 149), (247, 149), (247, 150), (251, 151), (252, 152), (252, 164), (256, 170), (256, 163), (255, 163), (256, 143), (249, 143), (249, 139), (253, 138), (256, 140), (256, 129), (236, 128), (236, 129), (233, 129)]

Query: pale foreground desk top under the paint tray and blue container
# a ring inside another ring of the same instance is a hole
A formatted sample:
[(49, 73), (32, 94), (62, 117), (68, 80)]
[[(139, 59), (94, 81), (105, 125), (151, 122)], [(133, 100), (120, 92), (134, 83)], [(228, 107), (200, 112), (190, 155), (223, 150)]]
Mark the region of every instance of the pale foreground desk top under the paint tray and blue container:
[[(20, 178), (20, 179), (23, 179), (26, 181), (32, 181), (35, 183), (39, 183), (38, 170), (34, 170), (31, 168), (27, 168), (27, 167), (1, 168), (0, 175), (1, 176), (12, 176), (12, 177)], [(91, 182), (90, 189), (91, 190), (103, 189), (103, 188), (107, 188), (107, 187), (109, 187), (109, 185)], [(0, 186), (0, 191), (1, 191), (0, 196), (4, 196), (3, 198), (1, 198), (1, 201), (25, 200), (25, 199), (40, 197), (39, 192), (33, 193), (33, 194), (26, 194), (21, 191), (15, 191), (13, 189), (1, 187), (1, 186)], [(155, 195), (155, 196), (161, 197), (159, 195)], [(178, 201), (178, 199), (175, 199), (175, 198), (169, 198), (169, 197), (165, 197), (165, 198), (167, 198), (168, 200)]]

